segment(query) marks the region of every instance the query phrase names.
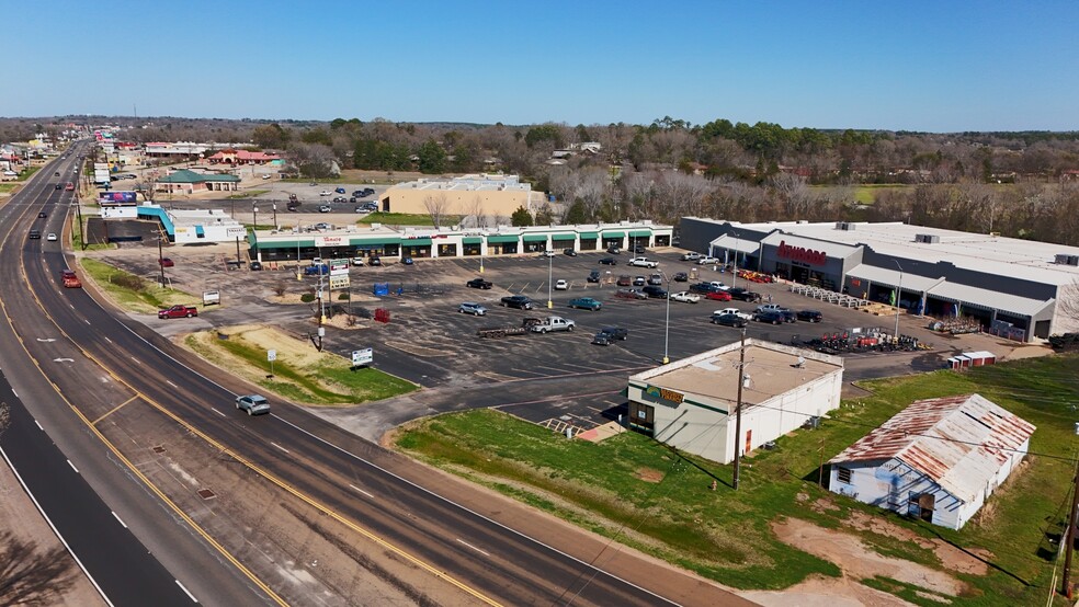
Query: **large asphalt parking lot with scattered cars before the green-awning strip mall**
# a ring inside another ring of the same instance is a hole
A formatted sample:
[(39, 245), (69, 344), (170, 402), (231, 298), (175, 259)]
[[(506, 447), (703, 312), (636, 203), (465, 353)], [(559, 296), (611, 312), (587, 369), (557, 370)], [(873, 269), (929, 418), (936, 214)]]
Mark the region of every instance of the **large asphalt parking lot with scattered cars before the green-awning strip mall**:
[[(217, 250), (220, 250), (217, 252)], [(194, 322), (161, 322), (147, 319), (147, 324), (162, 332), (197, 330), (211, 325), (250, 322), (271, 322), (303, 339), (314, 330), (313, 312), (307, 305), (281, 306), (271, 304), (275, 285), (289, 291), (311, 288), (317, 277), (303, 280), (295, 277), (295, 267), (277, 272), (227, 270), (220, 260), (235, 257), (235, 250), (171, 248), (167, 253), (177, 260), (169, 277), (177, 288), (198, 294), (203, 289), (222, 289), (228, 306), (204, 313)], [(697, 273), (697, 280), (731, 283), (731, 275), (716, 272), (712, 266), (696, 266), (679, 261), (681, 251), (650, 251), (648, 256), (660, 261), (659, 270), (668, 276), (675, 272)], [(130, 250), (103, 252), (107, 261), (144, 276), (152, 276), (157, 251)], [(425, 389), (394, 402), (368, 403), (355, 409), (323, 412), (326, 416), (347, 425), (353, 432), (377, 437), (383, 431), (408, 419), (476, 406), (495, 406), (536, 423), (561, 423), (588, 428), (617, 419), (624, 412), (622, 396), (626, 377), (659, 365), (665, 354), (670, 359), (684, 358), (700, 352), (728, 344), (739, 336), (737, 329), (711, 323), (714, 310), (735, 307), (750, 312), (756, 305), (741, 301), (698, 304), (665, 299), (622, 299), (615, 297), (613, 284), (587, 283), (592, 270), (649, 276), (652, 271), (627, 267), (631, 256), (617, 255), (618, 265), (599, 265), (601, 252), (580, 253), (571, 257), (538, 255), (484, 259), (418, 260), (406, 266), (391, 263), (384, 267), (354, 267), (350, 271), (353, 293), (352, 308), (371, 312), (383, 308), (389, 312), (388, 323), (365, 320), (360, 330), (328, 328), (325, 346), (328, 351), (348, 356), (353, 350), (374, 348), (374, 366), (404, 377)], [(479, 273), (480, 263), (484, 273)], [(549, 272), (549, 280), (548, 280)], [(490, 290), (467, 288), (465, 283), (482, 276), (493, 283)], [(604, 275), (605, 276), (605, 275)], [(565, 279), (567, 290), (550, 289), (553, 308), (546, 308), (548, 285)], [(606, 280), (604, 280), (605, 283)], [(374, 297), (372, 286), (388, 283), (390, 295)], [(760, 291), (766, 299), (792, 309), (817, 309), (824, 313), (820, 323), (761, 324), (750, 322), (748, 336), (781, 343), (802, 342), (824, 335), (850, 331), (852, 328), (881, 327), (890, 333), (894, 317), (875, 317), (807, 299), (790, 293), (783, 284), (743, 284)], [(684, 290), (689, 283), (671, 283), (671, 290)], [(665, 284), (665, 287), (667, 285)], [(397, 293), (400, 291), (400, 295)], [(499, 306), (511, 294), (526, 295), (535, 309), (525, 311)], [(576, 297), (592, 297), (602, 302), (599, 311), (570, 309), (567, 302)], [(331, 299), (338, 313), (349, 309), (347, 301)], [(463, 301), (484, 305), (484, 317), (458, 313)], [(525, 333), (503, 339), (480, 339), (476, 331), (491, 327), (520, 327), (526, 317), (560, 316), (577, 323), (572, 332), (549, 334)], [(628, 329), (626, 341), (612, 345), (591, 344), (591, 337), (602, 327)], [(901, 331), (919, 339), (935, 342), (931, 352), (864, 353), (845, 355), (848, 381), (866, 377), (900, 375), (916, 370), (940, 368), (943, 358), (957, 350), (958, 343), (920, 327), (917, 319), (904, 319)]]

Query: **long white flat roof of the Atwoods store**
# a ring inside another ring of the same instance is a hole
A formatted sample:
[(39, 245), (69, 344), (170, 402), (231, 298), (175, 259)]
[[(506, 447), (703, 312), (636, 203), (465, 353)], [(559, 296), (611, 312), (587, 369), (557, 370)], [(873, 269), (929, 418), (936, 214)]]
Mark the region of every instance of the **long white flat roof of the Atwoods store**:
[[(807, 249), (824, 249), (824, 243), (850, 247), (865, 244), (884, 255), (918, 259), (929, 263), (949, 262), (961, 268), (983, 273), (1011, 274), (1057, 286), (1079, 279), (1079, 266), (1055, 263), (1058, 254), (1079, 255), (1079, 247), (927, 228), (900, 221), (848, 222), (845, 224), (847, 229), (840, 229), (834, 221), (740, 224), (737, 221), (695, 219), (720, 225), (730, 224), (735, 230), (738, 228), (764, 232), (782, 230), (785, 234), (821, 242), (820, 247), (813, 247), (811, 242), (799, 244)], [(938, 241), (919, 242), (916, 240), (919, 234), (936, 237)], [(769, 238), (774, 239), (775, 236)]]

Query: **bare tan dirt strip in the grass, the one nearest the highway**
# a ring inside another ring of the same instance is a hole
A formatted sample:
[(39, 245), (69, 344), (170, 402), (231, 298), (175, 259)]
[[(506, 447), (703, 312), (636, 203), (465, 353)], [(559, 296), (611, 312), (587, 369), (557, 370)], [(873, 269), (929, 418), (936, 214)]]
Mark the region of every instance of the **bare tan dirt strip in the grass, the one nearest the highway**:
[(783, 542), (839, 565), (857, 580), (888, 577), (946, 596), (969, 591), (967, 584), (947, 573), (902, 559), (882, 557), (854, 535), (818, 527), (797, 518), (773, 523), (772, 530)]

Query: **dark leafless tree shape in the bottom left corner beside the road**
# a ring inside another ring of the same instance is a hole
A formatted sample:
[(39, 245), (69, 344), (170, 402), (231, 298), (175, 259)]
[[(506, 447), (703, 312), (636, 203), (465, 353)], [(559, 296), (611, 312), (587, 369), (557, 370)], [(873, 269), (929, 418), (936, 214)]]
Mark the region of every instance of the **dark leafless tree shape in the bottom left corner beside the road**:
[(57, 546), (36, 545), (0, 532), (0, 605), (49, 605), (75, 584), (75, 561)]

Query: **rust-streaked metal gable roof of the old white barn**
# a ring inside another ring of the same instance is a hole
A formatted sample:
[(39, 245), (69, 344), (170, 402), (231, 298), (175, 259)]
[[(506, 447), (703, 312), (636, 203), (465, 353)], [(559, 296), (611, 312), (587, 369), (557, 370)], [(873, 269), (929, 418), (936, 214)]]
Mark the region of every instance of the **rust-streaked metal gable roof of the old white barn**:
[(980, 394), (920, 400), (829, 463), (895, 458), (959, 500), (973, 502), (1034, 430)]

